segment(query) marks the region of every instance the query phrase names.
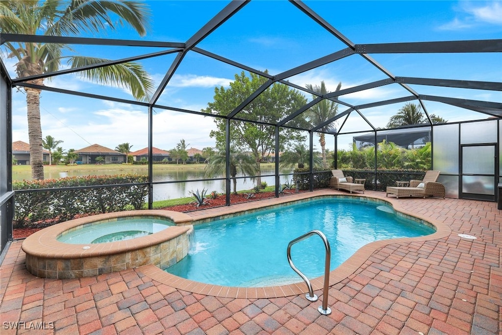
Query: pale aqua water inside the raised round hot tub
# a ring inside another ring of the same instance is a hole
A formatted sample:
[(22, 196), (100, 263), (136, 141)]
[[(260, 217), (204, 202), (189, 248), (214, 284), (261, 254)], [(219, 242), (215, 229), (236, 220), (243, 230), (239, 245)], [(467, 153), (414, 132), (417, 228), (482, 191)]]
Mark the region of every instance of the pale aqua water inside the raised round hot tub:
[(155, 217), (121, 217), (116, 221), (92, 222), (64, 232), (57, 237), (59, 242), (71, 244), (94, 244), (124, 241), (158, 233), (173, 222)]

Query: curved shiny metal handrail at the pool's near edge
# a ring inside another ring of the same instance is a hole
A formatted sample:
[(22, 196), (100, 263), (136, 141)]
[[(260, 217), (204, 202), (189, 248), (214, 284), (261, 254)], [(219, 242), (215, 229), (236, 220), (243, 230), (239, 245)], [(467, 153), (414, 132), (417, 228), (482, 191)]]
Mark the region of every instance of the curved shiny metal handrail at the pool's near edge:
[(323, 315), (329, 315), (331, 314), (331, 309), (328, 307), (328, 286), (329, 286), (329, 265), (331, 262), (331, 248), (329, 246), (328, 239), (326, 236), (318, 230), (314, 230), (311, 232), (308, 232), (307, 234), (304, 234), (300, 236), (299, 238), (294, 239), (288, 244), (288, 262), (291, 268), (302, 277), (303, 281), (305, 284), (307, 284), (307, 287), (309, 289), (309, 293), (305, 294), (305, 298), (309, 301), (317, 301), (317, 295), (314, 294), (314, 291), (312, 290), (312, 285), (310, 284), (310, 280), (305, 276), (298, 268), (293, 264), (293, 261), (291, 260), (291, 247), (300, 241), (303, 241), (307, 238), (309, 238), (311, 235), (317, 234), (321, 237), (322, 242), (324, 242), (324, 247), (326, 248), (326, 257), (324, 258), (324, 287), (322, 290), (322, 294), (324, 295), (324, 300), (322, 301), (322, 306), (319, 306), (317, 310), (319, 313)]

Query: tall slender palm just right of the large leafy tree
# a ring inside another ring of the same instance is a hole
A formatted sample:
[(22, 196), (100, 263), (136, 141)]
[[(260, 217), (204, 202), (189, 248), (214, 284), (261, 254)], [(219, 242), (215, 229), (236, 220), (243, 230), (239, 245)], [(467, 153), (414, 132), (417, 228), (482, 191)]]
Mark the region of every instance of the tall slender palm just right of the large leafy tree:
[[(328, 93), (324, 81), (321, 81), (321, 86), (307, 84), (305, 87), (321, 95), (325, 95)], [(336, 86), (335, 92), (339, 91), (341, 87), (342, 83), (339, 82), (338, 86)], [(312, 97), (315, 99), (318, 96), (312, 95)], [(329, 99), (322, 99), (319, 103), (316, 103), (314, 106), (310, 107), (307, 111), (305, 111), (305, 113), (306, 113), (305, 118), (310, 122), (310, 124), (312, 126), (317, 126), (328, 121), (329, 119), (336, 116), (336, 114), (338, 114), (338, 103)], [(331, 124), (328, 124), (320, 128), (319, 131), (328, 132), (332, 130), (332, 128), (333, 126)], [(326, 160), (326, 138), (324, 133), (318, 133), (318, 134), (319, 134), (319, 144), (321, 145), (322, 164), (323, 167), (326, 169), (328, 167), (328, 163)]]

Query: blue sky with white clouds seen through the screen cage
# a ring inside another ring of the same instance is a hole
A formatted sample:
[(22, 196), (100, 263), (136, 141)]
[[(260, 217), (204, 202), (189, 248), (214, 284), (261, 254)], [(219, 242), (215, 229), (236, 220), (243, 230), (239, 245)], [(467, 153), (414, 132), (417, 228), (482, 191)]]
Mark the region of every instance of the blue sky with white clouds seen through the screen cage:
[[(148, 1), (151, 27), (144, 40), (186, 42), (223, 9), (226, 1)], [(305, 4), (356, 44), (422, 42), (502, 38), (502, 2), (499, 1), (306, 1)], [(127, 27), (99, 37), (140, 39)], [(305, 62), (345, 48), (338, 39), (315, 24), (287, 1), (253, 0), (225, 22), (198, 47), (231, 60), (278, 74)], [(73, 46), (77, 53), (109, 59), (159, 51), (156, 48)], [(502, 55), (484, 54), (376, 54), (371, 55), (396, 76), (500, 81)], [(169, 69), (174, 55), (141, 61), (156, 83)], [(9, 70), (15, 61), (4, 59)], [(240, 69), (190, 52), (176, 71), (158, 103), (199, 111), (213, 100), (215, 86), (228, 86)], [(15, 77), (14, 72), (11, 76)], [(318, 69), (288, 78), (291, 82), (319, 84), (328, 89), (360, 85), (387, 77), (359, 55), (352, 55)], [(81, 92), (130, 98), (127, 90), (104, 87), (76, 75), (64, 75), (46, 85)], [(502, 101), (502, 94), (458, 88), (411, 85), (420, 94)], [(343, 96), (351, 104), (363, 104), (410, 95), (393, 84)], [(307, 96), (310, 100), (311, 97)], [(385, 127), (403, 104), (361, 110), (375, 127)], [(454, 122), (486, 118), (474, 112), (438, 102), (426, 102), (431, 114)], [(346, 107), (340, 106), (340, 111)], [(98, 143), (109, 148), (129, 142), (133, 150), (148, 145), (147, 110), (144, 107), (42, 92), (43, 136), (63, 140), (66, 150)], [(13, 140), (28, 142), (24, 91), (14, 94)], [(209, 132), (211, 118), (155, 109), (154, 146), (169, 150), (180, 139), (189, 147), (214, 146)], [(369, 130), (362, 119), (351, 117), (344, 131)], [(328, 142), (329, 146), (329, 142)]]

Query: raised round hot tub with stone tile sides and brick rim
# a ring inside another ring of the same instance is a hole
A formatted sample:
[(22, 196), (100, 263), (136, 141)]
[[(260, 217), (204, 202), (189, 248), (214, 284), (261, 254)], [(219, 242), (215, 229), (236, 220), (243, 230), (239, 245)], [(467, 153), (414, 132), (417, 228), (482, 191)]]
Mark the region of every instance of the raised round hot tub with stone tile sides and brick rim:
[(59, 279), (147, 264), (164, 268), (188, 254), (191, 222), (190, 216), (167, 210), (122, 211), (62, 222), (23, 242), (26, 268), (35, 276)]

